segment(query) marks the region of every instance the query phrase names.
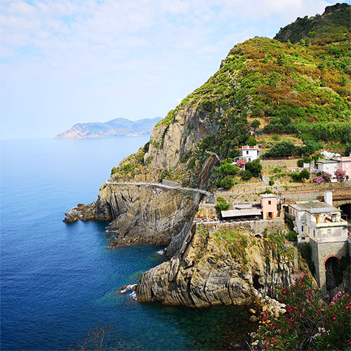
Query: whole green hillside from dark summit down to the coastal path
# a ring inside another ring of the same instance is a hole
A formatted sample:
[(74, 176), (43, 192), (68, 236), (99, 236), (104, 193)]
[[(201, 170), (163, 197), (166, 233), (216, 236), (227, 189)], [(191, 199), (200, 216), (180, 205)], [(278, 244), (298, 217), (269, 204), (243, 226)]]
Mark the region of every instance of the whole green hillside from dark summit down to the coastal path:
[[(351, 52), (345, 21), (350, 8), (347, 4), (328, 6), (322, 16), (300, 19), (282, 29), (277, 34), (280, 40), (255, 37), (234, 46), (218, 72), (159, 121), (155, 127), (159, 133), (150, 140), (153, 149), (149, 152), (146, 145), (128, 157), (115, 170), (115, 178), (133, 178), (138, 172), (152, 173), (163, 167), (169, 179), (199, 186), (199, 180), (206, 178), (203, 168), (208, 152), (216, 152), (221, 159), (232, 157), (253, 131), (260, 134), (260, 141), (264, 135), (268, 139), (272, 134), (286, 134), (300, 143), (315, 140), (344, 147), (351, 143)], [(289, 29), (296, 23), (299, 31)], [(164, 140), (167, 135), (171, 138), (170, 126), (178, 123), (176, 117), (189, 114), (189, 109), (216, 132), (201, 138), (199, 126), (187, 125), (186, 147), (180, 145), (170, 154)], [(167, 154), (166, 160), (178, 158), (178, 164), (157, 163), (160, 154)], [(138, 171), (140, 167), (143, 171)]]

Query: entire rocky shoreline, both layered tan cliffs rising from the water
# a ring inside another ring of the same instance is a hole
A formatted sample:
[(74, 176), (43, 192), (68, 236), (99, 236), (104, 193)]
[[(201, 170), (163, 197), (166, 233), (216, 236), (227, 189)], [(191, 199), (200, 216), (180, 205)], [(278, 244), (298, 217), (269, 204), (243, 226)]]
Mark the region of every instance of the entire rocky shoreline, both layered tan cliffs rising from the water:
[(264, 233), (256, 237), (248, 223), (220, 230), (194, 225), (202, 199), (197, 192), (150, 185), (103, 185), (97, 201), (72, 208), (65, 222), (110, 220), (110, 247), (139, 242), (166, 246), (170, 260), (145, 272), (136, 287), (140, 302), (250, 305), (258, 294), (270, 295), (274, 284), (293, 282), (291, 259), (279, 255)]

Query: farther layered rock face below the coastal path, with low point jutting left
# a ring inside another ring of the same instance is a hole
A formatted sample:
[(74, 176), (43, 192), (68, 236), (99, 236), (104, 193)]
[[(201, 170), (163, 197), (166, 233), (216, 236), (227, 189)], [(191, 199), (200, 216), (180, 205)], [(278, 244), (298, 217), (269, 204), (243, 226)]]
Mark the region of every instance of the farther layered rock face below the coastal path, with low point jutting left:
[(66, 213), (65, 222), (111, 220), (115, 232), (110, 247), (145, 242), (168, 247), (172, 256), (189, 232), (199, 202), (204, 195), (196, 191), (166, 189), (156, 185), (104, 185), (98, 200), (79, 204)]

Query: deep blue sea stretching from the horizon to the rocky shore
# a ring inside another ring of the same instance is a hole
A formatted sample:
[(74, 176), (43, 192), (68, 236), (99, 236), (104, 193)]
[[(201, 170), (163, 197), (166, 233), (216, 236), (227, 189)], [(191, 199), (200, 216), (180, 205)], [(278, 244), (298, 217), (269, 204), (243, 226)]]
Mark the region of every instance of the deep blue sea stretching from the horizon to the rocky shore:
[(116, 293), (162, 263), (163, 248), (107, 249), (107, 222), (62, 223), (147, 141), (1, 141), (1, 350), (67, 350), (99, 323), (140, 350), (227, 349), (248, 332), (241, 307), (165, 307)]

